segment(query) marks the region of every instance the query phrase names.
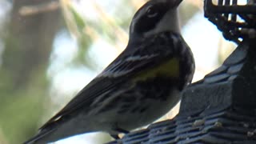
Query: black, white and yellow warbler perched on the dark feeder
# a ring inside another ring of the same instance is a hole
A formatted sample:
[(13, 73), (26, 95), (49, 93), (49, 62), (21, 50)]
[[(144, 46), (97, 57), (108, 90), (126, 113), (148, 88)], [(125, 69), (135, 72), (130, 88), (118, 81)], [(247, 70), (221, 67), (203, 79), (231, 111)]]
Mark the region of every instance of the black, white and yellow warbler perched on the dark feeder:
[(179, 30), (180, 2), (146, 2), (130, 24), (126, 50), (26, 143), (93, 131), (118, 138), (172, 109), (194, 74), (193, 54)]

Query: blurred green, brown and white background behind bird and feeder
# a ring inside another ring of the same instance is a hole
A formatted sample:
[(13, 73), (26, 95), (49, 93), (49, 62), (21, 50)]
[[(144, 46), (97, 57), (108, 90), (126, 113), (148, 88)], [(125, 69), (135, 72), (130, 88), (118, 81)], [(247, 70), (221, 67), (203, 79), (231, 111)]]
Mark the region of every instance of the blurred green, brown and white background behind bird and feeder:
[[(33, 136), (126, 47), (146, 0), (0, 0), (0, 144)], [(182, 34), (203, 78), (234, 50), (203, 17), (202, 0), (180, 6)], [(178, 113), (178, 106), (164, 118)], [(55, 143), (97, 144), (108, 134)]]

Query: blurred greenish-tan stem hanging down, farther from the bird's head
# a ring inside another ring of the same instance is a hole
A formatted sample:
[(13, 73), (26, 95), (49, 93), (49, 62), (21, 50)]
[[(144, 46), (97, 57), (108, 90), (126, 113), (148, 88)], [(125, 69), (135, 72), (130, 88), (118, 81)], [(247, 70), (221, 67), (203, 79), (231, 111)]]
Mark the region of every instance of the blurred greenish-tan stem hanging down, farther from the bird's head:
[(85, 65), (86, 67), (94, 70), (97, 65), (85, 54), (88, 54), (88, 50), (92, 42), (98, 39), (96, 31), (91, 28), (81, 14), (73, 6), (70, 0), (60, 0), (62, 7), (62, 14), (66, 22), (66, 27), (69, 30), (71, 36), (78, 42), (79, 52), (73, 59), (73, 63), (78, 65)]

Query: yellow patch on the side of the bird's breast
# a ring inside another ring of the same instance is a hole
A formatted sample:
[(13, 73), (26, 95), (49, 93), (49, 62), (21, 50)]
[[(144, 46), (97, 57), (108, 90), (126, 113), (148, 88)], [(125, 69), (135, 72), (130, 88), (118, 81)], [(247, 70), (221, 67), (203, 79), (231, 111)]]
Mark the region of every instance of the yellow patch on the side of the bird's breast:
[(177, 78), (179, 76), (178, 58), (171, 58), (169, 61), (153, 67), (152, 70), (142, 70), (135, 76), (134, 81), (145, 81), (156, 76)]

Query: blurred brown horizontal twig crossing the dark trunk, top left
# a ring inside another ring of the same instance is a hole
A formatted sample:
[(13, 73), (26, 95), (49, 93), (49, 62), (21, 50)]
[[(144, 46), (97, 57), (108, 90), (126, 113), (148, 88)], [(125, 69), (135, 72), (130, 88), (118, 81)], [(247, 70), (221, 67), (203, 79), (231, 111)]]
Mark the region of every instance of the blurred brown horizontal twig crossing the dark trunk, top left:
[(34, 14), (41, 14), (41, 13), (58, 10), (59, 6), (60, 5), (58, 1), (40, 3), (36, 6), (22, 6), (18, 10), (18, 13), (22, 16), (30, 16)]

